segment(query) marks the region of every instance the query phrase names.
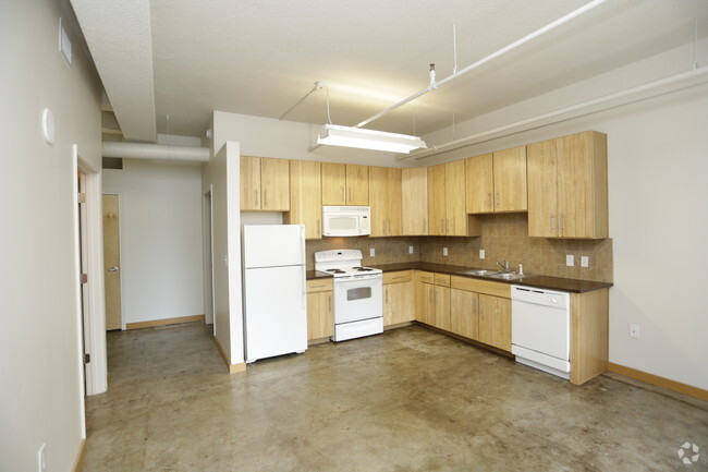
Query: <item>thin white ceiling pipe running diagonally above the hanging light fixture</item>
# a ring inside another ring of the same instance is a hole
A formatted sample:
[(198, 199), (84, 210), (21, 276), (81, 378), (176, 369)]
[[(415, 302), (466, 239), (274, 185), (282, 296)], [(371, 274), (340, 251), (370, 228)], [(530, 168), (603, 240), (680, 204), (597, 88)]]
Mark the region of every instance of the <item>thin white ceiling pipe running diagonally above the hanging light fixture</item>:
[[(356, 124), (354, 128), (366, 126), (371, 121), (378, 120), (379, 118), (390, 113), (391, 111), (395, 110), (396, 108), (400, 108), (403, 105), (405, 105), (405, 104), (407, 104), (410, 101), (413, 101), (416, 98), (427, 94), (428, 92), (432, 92), (432, 90), (439, 88), (440, 86), (447, 84), (448, 82), (451, 82), (451, 81), (466, 74), (467, 72), (472, 72), (475, 69), (486, 64), (487, 62), (489, 62), (489, 61), (491, 61), (493, 59), (497, 59), (498, 57), (500, 57), (502, 55), (505, 55), (506, 52), (512, 51), (512, 50), (525, 45), (526, 43), (528, 43), (530, 40), (536, 39), (537, 37), (544, 35), (544, 34), (546, 34), (546, 33), (548, 33), (548, 32), (550, 32), (552, 29), (556, 29), (557, 27), (570, 22), (571, 20), (573, 20), (573, 19), (575, 19), (575, 17), (577, 17), (577, 16), (584, 14), (584, 13), (587, 13), (588, 11), (601, 5), (602, 3), (607, 2), (607, 1), (608, 0), (593, 0), (591, 2), (584, 4), (579, 9), (570, 12), (565, 16), (562, 16), (562, 17), (556, 20), (554, 22), (547, 24), (542, 28), (536, 29), (535, 32), (524, 36), (523, 38), (512, 43), (511, 45), (499, 49), (497, 52), (492, 52), (491, 55), (478, 60), (477, 62), (474, 62), (474, 63), (467, 65), (466, 68), (464, 68), (464, 69), (462, 69), (460, 71), (454, 71), (451, 75), (448, 75), (442, 81), (440, 81), (438, 83), (435, 83), (435, 84), (431, 83), (429, 86), (425, 87), (424, 89), (422, 89), (419, 92), (416, 92), (415, 94), (411, 95), (407, 98), (404, 98), (403, 100), (399, 101), (398, 104), (391, 105), (386, 110), (379, 111), (378, 113), (367, 118), (366, 120), (364, 120), (361, 123)], [(454, 45), (454, 48), (456, 50), (456, 44)], [(455, 51), (455, 53), (456, 53), (456, 51)]]

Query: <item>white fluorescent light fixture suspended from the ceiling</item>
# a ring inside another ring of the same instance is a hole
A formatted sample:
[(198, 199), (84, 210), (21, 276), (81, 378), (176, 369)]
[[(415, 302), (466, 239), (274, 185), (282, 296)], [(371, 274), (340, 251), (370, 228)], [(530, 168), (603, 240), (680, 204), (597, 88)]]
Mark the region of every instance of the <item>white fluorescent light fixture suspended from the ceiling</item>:
[(325, 124), (317, 136), (317, 144), (403, 154), (428, 148), (425, 142), (417, 136), (338, 124)]

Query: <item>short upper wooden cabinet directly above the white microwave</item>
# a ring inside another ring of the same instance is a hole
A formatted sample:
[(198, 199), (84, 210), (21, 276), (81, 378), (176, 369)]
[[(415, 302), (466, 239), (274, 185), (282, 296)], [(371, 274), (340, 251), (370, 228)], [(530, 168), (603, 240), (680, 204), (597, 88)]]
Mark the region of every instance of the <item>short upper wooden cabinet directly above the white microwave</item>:
[(368, 204), (367, 166), (322, 162), (322, 205)]

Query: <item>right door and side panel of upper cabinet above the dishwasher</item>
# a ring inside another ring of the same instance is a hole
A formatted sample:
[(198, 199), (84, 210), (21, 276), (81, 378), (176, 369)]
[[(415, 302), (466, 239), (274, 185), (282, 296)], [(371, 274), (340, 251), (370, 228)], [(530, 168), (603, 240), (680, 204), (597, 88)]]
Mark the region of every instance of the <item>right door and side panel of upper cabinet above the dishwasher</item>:
[(558, 159), (559, 235), (607, 238), (607, 136), (585, 132), (563, 137)]

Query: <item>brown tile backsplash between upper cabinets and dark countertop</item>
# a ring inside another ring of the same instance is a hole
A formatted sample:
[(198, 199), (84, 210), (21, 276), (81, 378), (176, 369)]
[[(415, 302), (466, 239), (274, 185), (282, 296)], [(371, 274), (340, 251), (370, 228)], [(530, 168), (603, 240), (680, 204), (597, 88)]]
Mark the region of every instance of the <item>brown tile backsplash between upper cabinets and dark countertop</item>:
[[(509, 261), (510, 268), (534, 275), (581, 280), (612, 281), (612, 240), (556, 240), (528, 237), (526, 214), (484, 215), (481, 237), (399, 237), (399, 238), (325, 238), (307, 241), (307, 268), (315, 266), (315, 252), (357, 249), (363, 263), (391, 264), (425, 261), (476, 268), (497, 268), (497, 261)], [(414, 254), (408, 254), (408, 246)], [(369, 257), (369, 249), (376, 256)], [(448, 255), (442, 255), (443, 247)], [(479, 258), (479, 250), (486, 252)], [(565, 266), (565, 256), (575, 256), (575, 266)], [(589, 257), (589, 267), (581, 267), (581, 256)]]

